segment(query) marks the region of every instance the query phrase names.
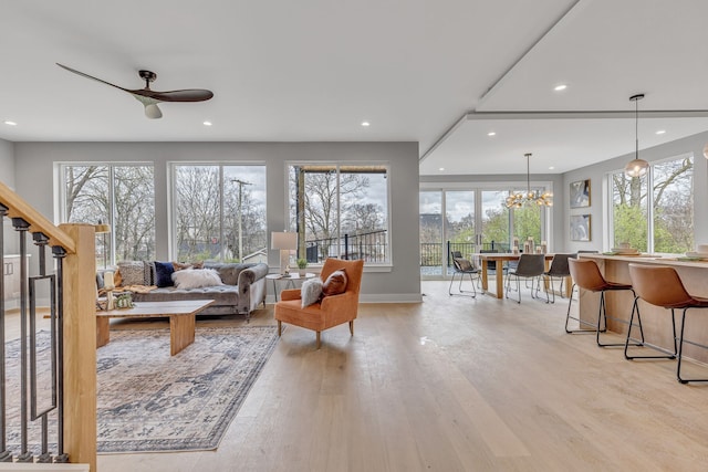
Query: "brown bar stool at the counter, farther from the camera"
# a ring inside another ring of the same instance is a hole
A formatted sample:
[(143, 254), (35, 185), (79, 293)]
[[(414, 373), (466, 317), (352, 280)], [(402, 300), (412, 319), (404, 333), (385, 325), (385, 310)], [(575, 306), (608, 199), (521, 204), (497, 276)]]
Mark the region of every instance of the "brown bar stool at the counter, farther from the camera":
[[(570, 319), (575, 319), (581, 325), (590, 325), (595, 327), (597, 346), (600, 347), (624, 346), (626, 343), (617, 343), (617, 344), (601, 343), (600, 333), (605, 333), (607, 331), (607, 308), (605, 306), (605, 292), (628, 290), (632, 292), (632, 294), (634, 294), (634, 290), (632, 289), (632, 285), (606, 281), (605, 277), (602, 276), (602, 273), (600, 272), (600, 268), (597, 268), (597, 264), (595, 263), (595, 261), (591, 259), (569, 259), (568, 266), (571, 271), (571, 276), (573, 277), (573, 286), (577, 285), (579, 287), (590, 292), (600, 292), (600, 308), (597, 310), (597, 324), (592, 324), (590, 322), (585, 322), (583, 319), (572, 317), (571, 305), (573, 303), (573, 297), (571, 296), (570, 300), (568, 301), (568, 314), (565, 316), (565, 333), (568, 334), (592, 333), (587, 329), (569, 329), (568, 322)], [(571, 293), (573, 293), (572, 287), (571, 287)], [(604, 322), (603, 328), (601, 328), (602, 322)], [(644, 342), (644, 339), (642, 339), (642, 342)]]

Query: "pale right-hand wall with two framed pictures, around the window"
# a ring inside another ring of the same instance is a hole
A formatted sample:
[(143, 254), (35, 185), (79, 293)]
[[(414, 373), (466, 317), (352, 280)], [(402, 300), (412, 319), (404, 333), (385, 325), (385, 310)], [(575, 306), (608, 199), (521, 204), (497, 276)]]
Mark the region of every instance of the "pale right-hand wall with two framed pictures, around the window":
[[(677, 139), (662, 146), (639, 150), (639, 157), (648, 162), (662, 160), (669, 157), (681, 156), (687, 153), (694, 154), (694, 228), (696, 243), (708, 242), (708, 160), (704, 158), (704, 146), (708, 143), (708, 132), (689, 136), (684, 139)], [(590, 208), (570, 208), (565, 200), (555, 200), (556, 206), (561, 206), (564, 210), (564, 217), (561, 221), (563, 240), (566, 241), (565, 251), (574, 252), (577, 250), (596, 250), (607, 251), (612, 247), (612, 241), (604, 241), (606, 221), (603, 220), (607, 214), (605, 206), (607, 202), (607, 172), (624, 169), (624, 166), (634, 159), (634, 153), (620, 156), (603, 162), (583, 167), (563, 176), (563, 188), (570, 189), (570, 185), (576, 180), (591, 179), (591, 207)], [(570, 241), (570, 216), (571, 214), (591, 214), (592, 240), (589, 242)]]

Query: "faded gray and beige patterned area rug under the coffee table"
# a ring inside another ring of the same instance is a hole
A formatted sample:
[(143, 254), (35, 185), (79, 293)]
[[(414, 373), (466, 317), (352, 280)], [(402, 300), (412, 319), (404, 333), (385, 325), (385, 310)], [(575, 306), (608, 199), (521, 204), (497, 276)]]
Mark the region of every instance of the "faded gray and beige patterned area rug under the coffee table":
[[(170, 356), (169, 329), (112, 331), (97, 350), (98, 452), (216, 449), (277, 342), (274, 326), (197, 327)], [(38, 345), (49, 352), (49, 336)]]

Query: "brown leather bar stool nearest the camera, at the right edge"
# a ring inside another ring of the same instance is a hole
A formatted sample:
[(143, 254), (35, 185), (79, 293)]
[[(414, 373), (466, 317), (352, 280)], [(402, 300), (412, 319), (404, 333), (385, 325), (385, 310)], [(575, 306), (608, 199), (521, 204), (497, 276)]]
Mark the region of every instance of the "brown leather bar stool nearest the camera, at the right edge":
[[(681, 315), (681, 333), (678, 342), (678, 363), (676, 366), (676, 378), (681, 384), (688, 384), (689, 381), (708, 381), (708, 378), (693, 378), (685, 379), (681, 377), (681, 354), (684, 350), (684, 332), (686, 328), (686, 313), (689, 308), (708, 308), (708, 298), (702, 298), (698, 296), (690, 295), (681, 279), (678, 276), (678, 273), (674, 268), (668, 266), (652, 266), (652, 265), (641, 265), (641, 264), (629, 264), (629, 277), (632, 279), (632, 284), (636, 290), (636, 298), (634, 301), (634, 307), (632, 310), (632, 315), (634, 316), (634, 312), (636, 308), (637, 319), (639, 319), (639, 329), (642, 328), (642, 322), (639, 318), (639, 305), (637, 304), (637, 298), (644, 300), (646, 303), (655, 306), (660, 306), (663, 308), (667, 308), (671, 311), (671, 326), (674, 328), (674, 354), (671, 355), (668, 349), (664, 349), (658, 346), (649, 345), (657, 350), (667, 353), (666, 356), (627, 356), (627, 345), (629, 343), (631, 333), (632, 333), (632, 324), (629, 324), (629, 331), (627, 331), (627, 340), (625, 342), (625, 357), (627, 359), (635, 358), (675, 358), (676, 357), (676, 318), (675, 318), (675, 310), (683, 310), (684, 313)], [(632, 323), (632, 318), (629, 319)], [(642, 334), (642, 338), (644, 338), (644, 334)], [(687, 342), (689, 344), (694, 344), (696, 346), (700, 346), (696, 343)], [(705, 346), (701, 346), (705, 347)]]

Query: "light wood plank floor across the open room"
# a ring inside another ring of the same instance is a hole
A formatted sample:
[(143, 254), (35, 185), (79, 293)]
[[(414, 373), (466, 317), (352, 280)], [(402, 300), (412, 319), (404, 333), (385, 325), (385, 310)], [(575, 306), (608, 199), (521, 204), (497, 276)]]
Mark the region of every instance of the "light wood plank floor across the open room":
[(100, 472), (708, 469), (708, 385), (675, 361), (566, 335), (565, 300), (423, 291), (362, 305), (320, 350), (289, 326), (216, 452), (100, 455)]

